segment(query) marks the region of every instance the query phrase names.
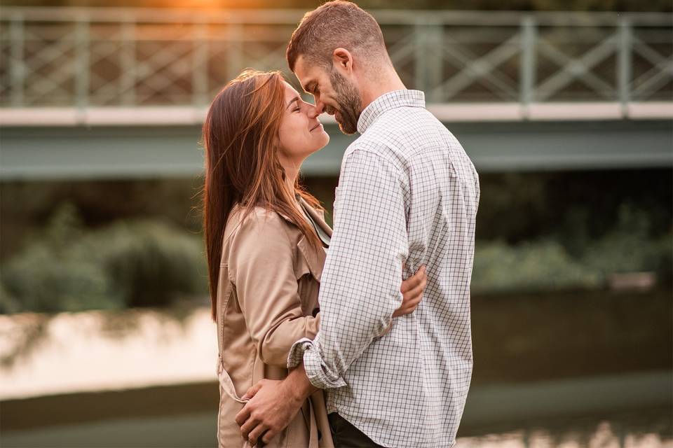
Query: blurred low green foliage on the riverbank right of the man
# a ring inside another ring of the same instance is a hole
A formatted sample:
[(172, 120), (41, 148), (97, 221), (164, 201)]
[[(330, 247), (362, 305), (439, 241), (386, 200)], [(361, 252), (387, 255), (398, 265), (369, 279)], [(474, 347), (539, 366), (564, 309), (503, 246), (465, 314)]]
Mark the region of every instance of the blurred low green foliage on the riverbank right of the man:
[(565, 244), (550, 237), (508, 245), (503, 241), (477, 244), (473, 290), (477, 292), (539, 291), (602, 288), (610, 274), (655, 272), (660, 283), (670, 283), (673, 234), (652, 236), (651, 217), (632, 204), (623, 204), (613, 229), (590, 239), (585, 219)]

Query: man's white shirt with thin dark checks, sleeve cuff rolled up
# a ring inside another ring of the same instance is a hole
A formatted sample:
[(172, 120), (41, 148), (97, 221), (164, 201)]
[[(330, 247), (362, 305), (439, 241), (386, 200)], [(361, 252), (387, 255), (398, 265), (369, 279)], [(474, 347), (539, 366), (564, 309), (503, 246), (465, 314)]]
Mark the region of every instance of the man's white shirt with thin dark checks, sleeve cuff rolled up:
[[(458, 140), (397, 90), (362, 111), (334, 201), (320, 284), (320, 332), (292, 346), (311, 383), (385, 447), (451, 447), (472, 376), (470, 277), (479, 179)], [(402, 263), (406, 268), (402, 269)], [(414, 313), (392, 319), (402, 276), (428, 286)]]

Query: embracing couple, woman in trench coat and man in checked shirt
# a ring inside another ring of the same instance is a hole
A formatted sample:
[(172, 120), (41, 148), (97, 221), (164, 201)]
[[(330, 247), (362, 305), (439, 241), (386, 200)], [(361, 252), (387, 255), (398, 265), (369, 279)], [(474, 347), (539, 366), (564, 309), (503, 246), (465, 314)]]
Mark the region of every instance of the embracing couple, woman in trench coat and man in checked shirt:
[[(307, 13), (287, 62), (314, 105), (247, 70), (203, 126), (219, 447), (451, 447), (473, 367), (477, 172), (355, 3)], [(360, 133), (334, 231), (298, 181), (329, 141), (322, 112)]]

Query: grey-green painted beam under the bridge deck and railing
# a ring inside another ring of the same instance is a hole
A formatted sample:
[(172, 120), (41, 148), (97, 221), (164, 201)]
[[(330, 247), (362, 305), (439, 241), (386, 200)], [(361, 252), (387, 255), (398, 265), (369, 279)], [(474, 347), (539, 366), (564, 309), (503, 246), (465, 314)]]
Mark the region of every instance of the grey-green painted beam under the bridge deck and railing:
[[(447, 123), (480, 172), (673, 167), (673, 121)], [(334, 176), (354, 136), (304, 163)], [(3, 127), (0, 181), (198, 176), (200, 127)]]

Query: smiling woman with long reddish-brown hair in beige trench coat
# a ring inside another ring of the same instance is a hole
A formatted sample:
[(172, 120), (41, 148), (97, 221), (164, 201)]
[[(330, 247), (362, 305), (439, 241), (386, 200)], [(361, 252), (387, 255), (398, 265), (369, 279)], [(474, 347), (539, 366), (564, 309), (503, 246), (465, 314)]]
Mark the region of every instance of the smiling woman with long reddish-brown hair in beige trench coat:
[[(283, 379), (287, 354), (318, 332), (318, 288), (332, 230), (297, 175), (329, 136), (279, 72), (247, 70), (213, 100), (203, 125), (204, 230), (217, 322), (220, 447), (250, 447), (234, 416), (260, 379)], [(424, 274), (402, 284), (413, 311)], [(332, 447), (318, 391), (270, 445)]]

